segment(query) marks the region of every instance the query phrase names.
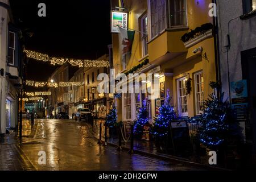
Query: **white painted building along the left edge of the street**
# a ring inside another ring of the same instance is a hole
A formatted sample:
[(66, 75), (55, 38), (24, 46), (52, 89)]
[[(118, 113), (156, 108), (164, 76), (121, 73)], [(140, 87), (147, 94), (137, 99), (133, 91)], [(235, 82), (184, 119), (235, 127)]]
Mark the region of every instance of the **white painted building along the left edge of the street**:
[(20, 86), (24, 73), (21, 31), (13, 23), (9, 1), (0, 1), (0, 117), (1, 135), (18, 127)]

